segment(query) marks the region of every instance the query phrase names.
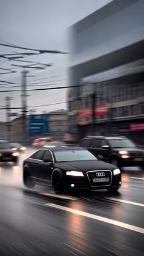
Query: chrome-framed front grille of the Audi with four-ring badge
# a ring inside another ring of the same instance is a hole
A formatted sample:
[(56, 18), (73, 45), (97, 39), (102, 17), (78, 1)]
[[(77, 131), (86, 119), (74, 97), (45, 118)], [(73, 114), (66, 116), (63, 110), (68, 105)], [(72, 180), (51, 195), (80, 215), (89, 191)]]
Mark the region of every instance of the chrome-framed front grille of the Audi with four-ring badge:
[[(87, 177), (90, 182), (90, 186), (110, 186), (112, 183), (111, 170), (92, 170), (87, 172)], [(109, 181), (103, 181), (103, 178), (109, 178)], [(94, 179), (99, 179), (99, 181), (95, 182)]]

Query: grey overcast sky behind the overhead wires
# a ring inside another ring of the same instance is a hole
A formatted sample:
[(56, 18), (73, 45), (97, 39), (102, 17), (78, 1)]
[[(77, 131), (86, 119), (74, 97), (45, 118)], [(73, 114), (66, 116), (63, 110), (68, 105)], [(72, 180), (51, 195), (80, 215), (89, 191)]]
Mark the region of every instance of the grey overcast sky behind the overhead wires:
[[(68, 27), (90, 13), (95, 12), (95, 10), (101, 8), (108, 2), (110, 0), (0, 0), (0, 40), (28, 48), (57, 49), (70, 52)], [(0, 54), (12, 53), (12, 51), (24, 52), (23, 50), (0, 46)], [(27, 77), (27, 83), (45, 82), (43, 84), (67, 86), (68, 57), (69, 54), (41, 54), (35, 57), (26, 57), (24, 60), (53, 63), (53, 66), (46, 68), (45, 71), (31, 71), (29, 75), (35, 76), (32, 78)], [(23, 62), (9, 62), (0, 58), (1, 68), (9, 68), (12, 63), (25, 64)], [(2, 70), (0, 70), (0, 73), (2, 73)], [(0, 75), (0, 80), (21, 82), (21, 70), (13, 73), (13, 75)], [(28, 89), (30, 88), (34, 89), (34, 87), (29, 87)], [(10, 87), (10, 89), (16, 88)], [(4, 90), (4, 88), (0, 90)], [(9, 95), (13, 97), (11, 106), (21, 107), (21, 92), (1, 93), (0, 105), (5, 105), (4, 98)], [(33, 108), (33, 106), (40, 104), (67, 101), (66, 89), (28, 92), (28, 95), (28, 106), (32, 106), (29, 109), (37, 109), (37, 114), (40, 114), (42, 111), (48, 112), (55, 109), (67, 108), (67, 104), (65, 103)], [(5, 120), (5, 111), (0, 111), (1, 120)]]

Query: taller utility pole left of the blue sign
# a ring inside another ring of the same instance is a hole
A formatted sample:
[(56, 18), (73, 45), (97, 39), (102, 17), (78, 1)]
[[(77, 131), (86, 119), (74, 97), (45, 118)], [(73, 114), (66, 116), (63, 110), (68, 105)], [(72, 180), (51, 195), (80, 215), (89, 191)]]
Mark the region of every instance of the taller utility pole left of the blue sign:
[(22, 104), (22, 116), (23, 116), (23, 141), (26, 141), (26, 131), (27, 131), (27, 120), (26, 120), (26, 113), (27, 113), (27, 90), (26, 90), (26, 75), (29, 71), (23, 70), (22, 71), (22, 87), (21, 87), (21, 104)]

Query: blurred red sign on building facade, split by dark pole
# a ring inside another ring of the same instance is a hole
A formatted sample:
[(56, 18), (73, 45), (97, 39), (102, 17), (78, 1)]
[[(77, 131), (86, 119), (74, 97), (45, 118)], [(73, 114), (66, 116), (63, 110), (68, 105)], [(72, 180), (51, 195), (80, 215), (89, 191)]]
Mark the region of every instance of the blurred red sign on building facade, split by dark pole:
[[(107, 114), (107, 104), (95, 106), (95, 115), (106, 115)], [(92, 108), (79, 109), (79, 119), (92, 117)]]

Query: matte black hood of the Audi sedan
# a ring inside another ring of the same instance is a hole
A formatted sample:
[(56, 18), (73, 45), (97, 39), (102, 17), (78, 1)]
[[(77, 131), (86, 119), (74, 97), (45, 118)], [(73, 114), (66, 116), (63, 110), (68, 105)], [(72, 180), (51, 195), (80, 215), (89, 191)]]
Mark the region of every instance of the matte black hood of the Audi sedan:
[(54, 164), (54, 167), (58, 167), (63, 170), (81, 170), (82, 172), (88, 172), (90, 170), (114, 170), (116, 166), (112, 164), (104, 163), (98, 160), (86, 160), (86, 161), (69, 161)]

